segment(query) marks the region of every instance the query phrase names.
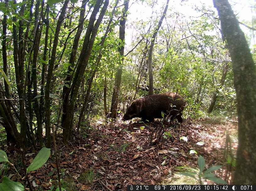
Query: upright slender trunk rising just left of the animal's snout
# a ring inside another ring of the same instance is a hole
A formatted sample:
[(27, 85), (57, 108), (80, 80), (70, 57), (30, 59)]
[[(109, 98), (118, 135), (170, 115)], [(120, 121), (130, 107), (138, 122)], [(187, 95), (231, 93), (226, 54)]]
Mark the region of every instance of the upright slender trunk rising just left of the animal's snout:
[[(129, 7), (129, 0), (124, 0), (124, 11), (122, 18), (120, 19), (120, 27), (119, 27), (119, 39), (121, 42), (124, 42), (125, 38), (125, 23), (126, 23), (126, 16), (127, 16), (127, 11)], [(121, 43), (119, 43), (120, 46)], [(124, 55), (124, 46), (121, 46), (118, 48), (118, 52), (120, 53), (120, 61), (118, 64), (118, 69), (117, 73), (115, 76), (115, 84), (114, 84), (114, 89), (113, 89), (113, 94), (112, 94), (112, 101), (111, 101), (111, 118), (115, 119), (117, 118), (117, 105), (118, 105), (118, 95), (120, 91), (120, 85), (121, 85), (121, 79), (122, 79), (122, 70), (123, 70), (123, 55)]]

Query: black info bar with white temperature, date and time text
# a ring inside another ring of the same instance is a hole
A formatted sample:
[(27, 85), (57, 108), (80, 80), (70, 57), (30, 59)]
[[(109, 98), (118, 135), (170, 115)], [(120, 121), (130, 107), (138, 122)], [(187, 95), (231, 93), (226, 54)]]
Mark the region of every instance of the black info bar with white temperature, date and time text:
[(145, 190), (145, 191), (167, 191), (167, 190), (256, 190), (255, 185), (128, 185), (127, 191)]

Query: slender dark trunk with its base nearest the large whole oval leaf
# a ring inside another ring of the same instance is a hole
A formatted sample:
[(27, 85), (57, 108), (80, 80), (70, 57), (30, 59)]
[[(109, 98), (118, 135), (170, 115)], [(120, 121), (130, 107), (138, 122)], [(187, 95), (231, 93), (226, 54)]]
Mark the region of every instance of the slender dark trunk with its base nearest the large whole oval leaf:
[(47, 70), (47, 79), (46, 79), (46, 87), (45, 87), (45, 113), (46, 113), (46, 137), (47, 137), (47, 147), (51, 148), (51, 111), (50, 111), (50, 87), (51, 87), (51, 80), (52, 80), (52, 72), (53, 72), (53, 67), (55, 63), (55, 58), (56, 58), (56, 51), (57, 51), (57, 46), (58, 46), (58, 38), (59, 38), (59, 33), (60, 33), (60, 28), (61, 24), (63, 23), (66, 9), (68, 6), (69, 0), (64, 2), (63, 8), (61, 10), (61, 14), (59, 16), (56, 30), (55, 30), (55, 36), (53, 40), (53, 47), (52, 47), (52, 54), (51, 54), (51, 60), (48, 65), (48, 70)]

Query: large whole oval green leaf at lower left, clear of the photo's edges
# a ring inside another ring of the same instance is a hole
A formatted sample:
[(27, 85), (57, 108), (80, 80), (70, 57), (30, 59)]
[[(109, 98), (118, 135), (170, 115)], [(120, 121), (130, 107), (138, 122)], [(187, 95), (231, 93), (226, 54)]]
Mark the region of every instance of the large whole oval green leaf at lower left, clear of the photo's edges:
[(29, 173), (30, 171), (36, 170), (36, 169), (40, 168), (41, 166), (43, 166), (43, 164), (46, 163), (46, 161), (50, 157), (50, 154), (51, 154), (51, 149), (43, 147), (37, 153), (37, 155), (35, 156), (35, 159), (33, 160), (33, 162), (27, 168), (27, 173)]

